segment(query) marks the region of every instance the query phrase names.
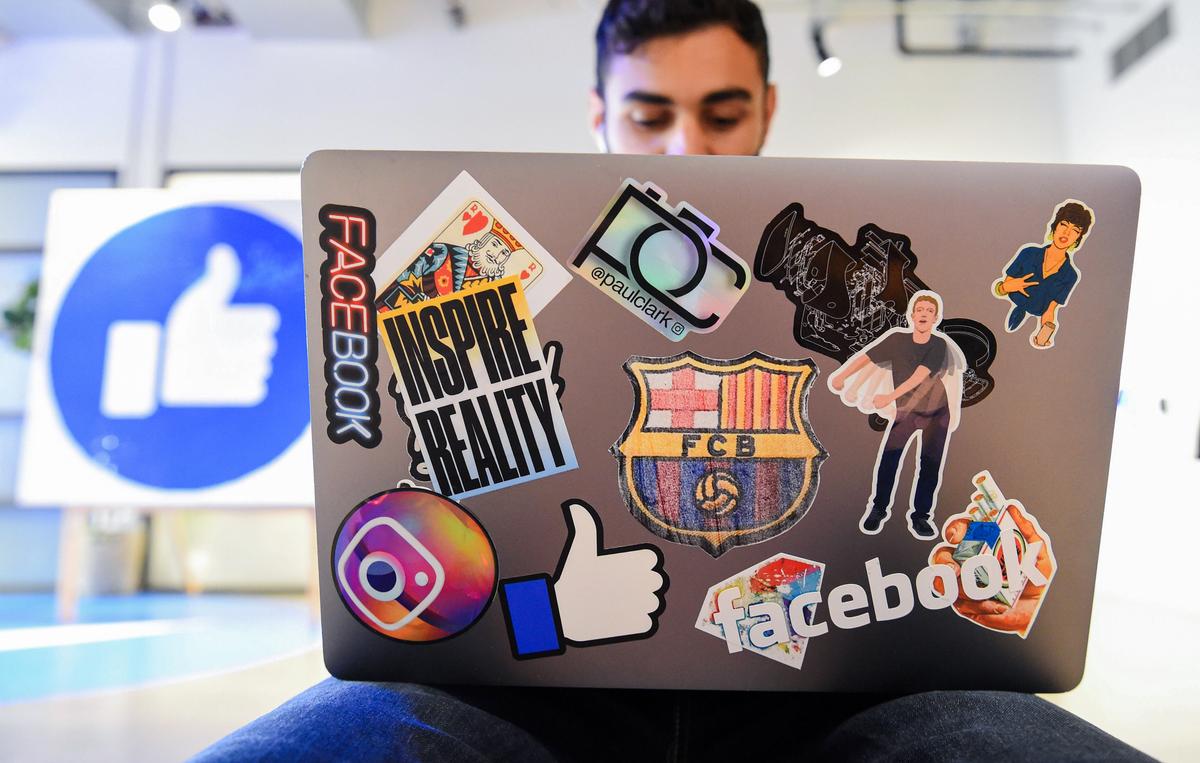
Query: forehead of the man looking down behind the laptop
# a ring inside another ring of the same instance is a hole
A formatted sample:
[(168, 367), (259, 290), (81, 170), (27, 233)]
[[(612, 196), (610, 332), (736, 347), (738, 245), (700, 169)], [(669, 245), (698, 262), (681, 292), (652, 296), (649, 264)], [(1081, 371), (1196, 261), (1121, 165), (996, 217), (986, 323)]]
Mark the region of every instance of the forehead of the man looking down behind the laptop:
[(728, 26), (656, 37), (608, 60), (605, 97), (701, 104), (752, 97), (764, 83), (758, 58)]

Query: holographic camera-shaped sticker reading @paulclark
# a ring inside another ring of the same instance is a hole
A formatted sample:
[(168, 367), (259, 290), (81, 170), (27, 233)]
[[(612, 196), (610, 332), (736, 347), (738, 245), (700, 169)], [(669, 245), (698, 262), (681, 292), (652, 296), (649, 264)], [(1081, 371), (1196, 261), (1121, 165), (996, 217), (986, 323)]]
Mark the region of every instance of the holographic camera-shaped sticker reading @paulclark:
[(583, 278), (678, 342), (721, 324), (750, 269), (716, 240), (720, 228), (654, 185), (625, 180), (571, 260)]

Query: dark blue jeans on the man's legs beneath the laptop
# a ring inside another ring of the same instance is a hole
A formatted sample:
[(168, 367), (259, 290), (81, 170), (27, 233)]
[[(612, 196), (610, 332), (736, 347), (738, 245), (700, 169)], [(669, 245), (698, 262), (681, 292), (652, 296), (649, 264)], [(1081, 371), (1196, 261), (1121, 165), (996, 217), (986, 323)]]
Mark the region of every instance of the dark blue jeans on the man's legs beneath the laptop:
[(328, 679), (194, 759), (1150, 761), (1032, 695), (446, 687)]

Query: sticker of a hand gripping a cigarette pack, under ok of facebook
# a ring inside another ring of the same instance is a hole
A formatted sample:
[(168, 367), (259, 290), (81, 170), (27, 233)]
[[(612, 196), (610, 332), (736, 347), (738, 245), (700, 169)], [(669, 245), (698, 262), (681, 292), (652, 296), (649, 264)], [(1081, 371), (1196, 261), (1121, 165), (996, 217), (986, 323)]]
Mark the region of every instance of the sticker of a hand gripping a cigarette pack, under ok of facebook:
[(1026, 638), (1058, 569), (1050, 536), (1021, 501), (1004, 498), (991, 473), (972, 482), (966, 511), (946, 521), (946, 542), (929, 554), (931, 565), (954, 572), (935, 585), (958, 581), (959, 590), (937, 593), (953, 599), (959, 617)]

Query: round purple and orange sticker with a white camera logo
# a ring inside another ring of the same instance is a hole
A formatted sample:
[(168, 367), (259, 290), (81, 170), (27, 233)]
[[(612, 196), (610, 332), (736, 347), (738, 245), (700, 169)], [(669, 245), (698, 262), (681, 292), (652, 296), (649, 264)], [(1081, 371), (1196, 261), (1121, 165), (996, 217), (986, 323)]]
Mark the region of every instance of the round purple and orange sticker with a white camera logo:
[(484, 614), (496, 593), (496, 549), (455, 501), (419, 488), (385, 491), (342, 522), (334, 581), (354, 617), (376, 632), (440, 641)]

